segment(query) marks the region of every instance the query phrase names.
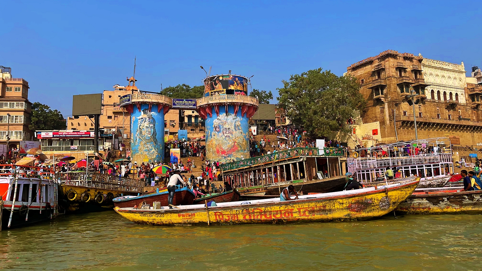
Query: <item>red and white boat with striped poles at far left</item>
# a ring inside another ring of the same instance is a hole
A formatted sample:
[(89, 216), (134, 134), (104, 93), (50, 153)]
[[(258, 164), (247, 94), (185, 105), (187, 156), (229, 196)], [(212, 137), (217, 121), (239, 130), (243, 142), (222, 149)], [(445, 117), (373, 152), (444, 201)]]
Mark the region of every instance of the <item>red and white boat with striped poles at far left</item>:
[(48, 168), (0, 165), (0, 230), (51, 219), (58, 184)]

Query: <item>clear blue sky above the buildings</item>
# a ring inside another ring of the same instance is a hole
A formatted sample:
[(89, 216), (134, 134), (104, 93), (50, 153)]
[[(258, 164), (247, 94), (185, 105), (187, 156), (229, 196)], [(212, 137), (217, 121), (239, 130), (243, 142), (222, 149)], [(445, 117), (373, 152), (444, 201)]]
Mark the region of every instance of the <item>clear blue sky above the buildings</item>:
[[(3, 1), (0, 65), (29, 82), (29, 99), (72, 111), (72, 95), (254, 75), (271, 90), (291, 74), (391, 49), (482, 66), (481, 1)], [(276, 102), (276, 101), (274, 101)]]

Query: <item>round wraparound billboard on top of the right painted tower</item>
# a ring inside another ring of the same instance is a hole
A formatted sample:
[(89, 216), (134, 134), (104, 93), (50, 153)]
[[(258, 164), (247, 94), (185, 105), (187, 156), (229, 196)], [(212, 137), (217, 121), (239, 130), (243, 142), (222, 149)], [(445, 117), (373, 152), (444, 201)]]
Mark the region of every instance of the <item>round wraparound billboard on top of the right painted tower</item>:
[(248, 95), (248, 79), (240, 75), (214, 75), (204, 80), (204, 96)]

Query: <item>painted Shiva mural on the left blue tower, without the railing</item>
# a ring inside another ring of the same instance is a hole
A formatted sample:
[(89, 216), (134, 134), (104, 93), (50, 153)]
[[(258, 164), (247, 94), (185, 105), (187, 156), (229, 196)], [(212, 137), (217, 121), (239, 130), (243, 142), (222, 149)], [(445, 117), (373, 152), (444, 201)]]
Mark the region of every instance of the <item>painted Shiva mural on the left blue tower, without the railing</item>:
[[(135, 136), (131, 146), (133, 149), (133, 161), (138, 164), (142, 163), (147, 156), (149, 162), (156, 162), (162, 160), (162, 146), (158, 142), (156, 131), (156, 117), (158, 113), (149, 112), (148, 109), (143, 109), (142, 114), (133, 119), (132, 127), (136, 127)], [(135, 125), (137, 121), (137, 125)], [(162, 134), (161, 134), (162, 135)], [(161, 142), (163, 143), (163, 142)], [(163, 145), (163, 144), (162, 144)]]

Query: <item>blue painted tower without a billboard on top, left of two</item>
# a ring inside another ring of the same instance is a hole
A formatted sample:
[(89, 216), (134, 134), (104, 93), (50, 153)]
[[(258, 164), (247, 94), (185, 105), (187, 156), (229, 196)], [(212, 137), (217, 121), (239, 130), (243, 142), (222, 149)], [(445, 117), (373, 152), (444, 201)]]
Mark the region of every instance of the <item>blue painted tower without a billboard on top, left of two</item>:
[(143, 162), (164, 160), (164, 115), (173, 107), (173, 100), (164, 95), (141, 93), (120, 97), (120, 107), (130, 114), (131, 157)]

